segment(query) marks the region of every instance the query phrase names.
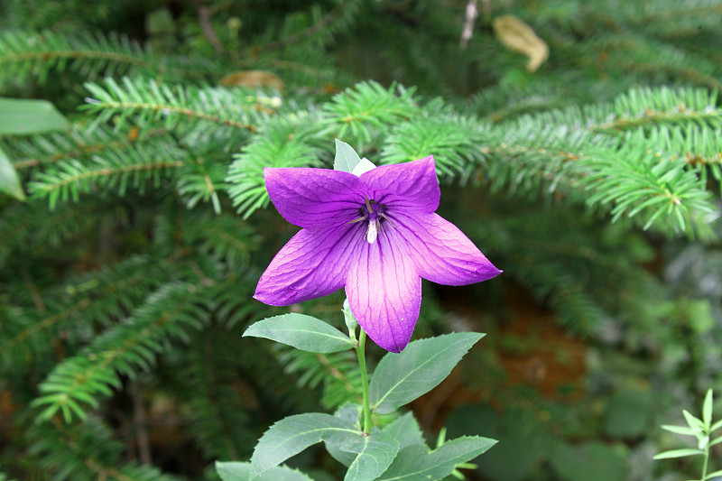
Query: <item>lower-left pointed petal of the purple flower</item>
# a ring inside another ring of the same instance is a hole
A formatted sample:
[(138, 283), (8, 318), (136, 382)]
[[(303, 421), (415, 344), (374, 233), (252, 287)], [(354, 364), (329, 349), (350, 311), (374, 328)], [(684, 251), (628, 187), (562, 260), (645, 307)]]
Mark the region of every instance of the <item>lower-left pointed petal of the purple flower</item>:
[(338, 291), (346, 282), (352, 253), (367, 244), (364, 235), (360, 224), (301, 229), (273, 257), (254, 298), (288, 306)]

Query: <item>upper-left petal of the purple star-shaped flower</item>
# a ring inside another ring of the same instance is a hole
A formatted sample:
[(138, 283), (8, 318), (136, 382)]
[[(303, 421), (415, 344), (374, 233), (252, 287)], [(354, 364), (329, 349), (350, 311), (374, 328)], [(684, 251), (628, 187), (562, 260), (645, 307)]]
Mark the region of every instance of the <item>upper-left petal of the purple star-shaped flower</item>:
[(273, 205), (296, 226), (338, 226), (364, 204), (361, 182), (349, 172), (266, 167), (264, 177)]

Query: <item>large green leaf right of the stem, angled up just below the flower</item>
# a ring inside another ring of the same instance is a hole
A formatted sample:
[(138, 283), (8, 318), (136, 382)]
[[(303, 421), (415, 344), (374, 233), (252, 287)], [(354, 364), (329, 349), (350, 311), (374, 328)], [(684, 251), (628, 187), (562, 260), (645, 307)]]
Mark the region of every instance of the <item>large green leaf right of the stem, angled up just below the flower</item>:
[(393, 412), (440, 384), (484, 334), (455, 332), (413, 341), (399, 354), (388, 353), (369, 384), (374, 412)]

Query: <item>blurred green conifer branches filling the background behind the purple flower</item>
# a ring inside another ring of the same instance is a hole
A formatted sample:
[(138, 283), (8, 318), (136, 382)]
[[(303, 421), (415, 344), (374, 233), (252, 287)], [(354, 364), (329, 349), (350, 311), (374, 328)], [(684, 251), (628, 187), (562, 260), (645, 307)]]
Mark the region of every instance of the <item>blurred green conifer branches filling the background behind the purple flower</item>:
[[(466, 7), (0, 4), (0, 477), (218, 479), (273, 421), (358, 402), (351, 353), (241, 338), (289, 312), (251, 297), (295, 232), (263, 168), (331, 168), (335, 138), (433, 154), (440, 213), (504, 269), (425, 284), (414, 334), (486, 332), (411, 405), (428, 439), (499, 439), (468, 479), (699, 473), (653, 455), (722, 372), (722, 2), (482, 0), (461, 48)], [(342, 301), (293, 309), (343, 331)]]

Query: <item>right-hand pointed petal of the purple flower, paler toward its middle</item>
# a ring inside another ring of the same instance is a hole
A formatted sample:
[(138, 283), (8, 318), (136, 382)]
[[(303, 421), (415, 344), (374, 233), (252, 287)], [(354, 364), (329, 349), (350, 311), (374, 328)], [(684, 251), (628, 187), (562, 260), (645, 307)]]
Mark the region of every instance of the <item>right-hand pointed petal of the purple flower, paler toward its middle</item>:
[(407, 215), (394, 211), (392, 222), (405, 237), (417, 272), (424, 279), (466, 285), (502, 273), (458, 227), (438, 214)]

